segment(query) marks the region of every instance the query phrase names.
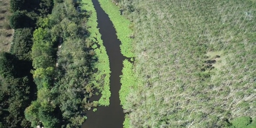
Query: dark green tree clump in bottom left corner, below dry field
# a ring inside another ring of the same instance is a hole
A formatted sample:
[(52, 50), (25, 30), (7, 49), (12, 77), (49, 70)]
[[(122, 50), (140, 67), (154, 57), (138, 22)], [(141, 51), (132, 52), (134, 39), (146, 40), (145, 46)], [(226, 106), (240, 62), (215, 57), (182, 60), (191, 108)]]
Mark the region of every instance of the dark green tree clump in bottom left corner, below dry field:
[[(24, 109), (29, 104), (29, 79), (20, 76), (17, 68), (21, 66), (15, 55), (0, 55), (0, 122), (4, 128), (27, 126)], [(25, 67), (24, 67), (25, 68)], [(27, 127), (29, 128), (29, 127)]]

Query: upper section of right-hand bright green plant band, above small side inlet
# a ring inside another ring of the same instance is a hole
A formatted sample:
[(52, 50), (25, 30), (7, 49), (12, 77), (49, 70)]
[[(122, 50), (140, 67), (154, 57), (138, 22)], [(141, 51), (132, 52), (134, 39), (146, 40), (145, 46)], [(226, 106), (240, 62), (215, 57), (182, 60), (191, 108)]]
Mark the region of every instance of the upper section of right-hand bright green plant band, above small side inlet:
[(114, 24), (116, 35), (122, 43), (120, 46), (121, 53), (126, 57), (134, 57), (132, 39), (129, 37), (132, 35), (132, 30), (129, 28), (131, 22), (120, 15), (119, 7), (114, 5), (111, 0), (99, 0), (99, 3)]

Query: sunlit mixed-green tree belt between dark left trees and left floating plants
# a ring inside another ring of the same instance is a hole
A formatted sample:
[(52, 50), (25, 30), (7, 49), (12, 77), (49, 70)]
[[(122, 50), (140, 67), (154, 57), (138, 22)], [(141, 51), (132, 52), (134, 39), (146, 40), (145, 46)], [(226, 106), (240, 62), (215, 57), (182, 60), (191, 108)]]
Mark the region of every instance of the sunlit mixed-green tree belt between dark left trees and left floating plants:
[(97, 106), (90, 83), (97, 61), (86, 40), (88, 15), (73, 0), (55, 0), (52, 14), (40, 18), (33, 33), (31, 59), (37, 99), (26, 108), (32, 126), (41, 121), (45, 128), (74, 128), (85, 121), (82, 112)]

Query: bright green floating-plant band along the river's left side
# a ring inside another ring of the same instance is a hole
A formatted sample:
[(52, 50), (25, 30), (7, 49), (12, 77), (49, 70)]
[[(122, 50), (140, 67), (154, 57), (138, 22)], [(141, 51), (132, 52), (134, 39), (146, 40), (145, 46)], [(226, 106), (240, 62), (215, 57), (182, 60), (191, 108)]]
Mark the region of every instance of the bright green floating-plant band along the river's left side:
[[(95, 78), (93, 84), (99, 88), (102, 96), (99, 100), (99, 104), (103, 106), (109, 105), (109, 98), (111, 95), (109, 78), (110, 78), (110, 66), (109, 66), (109, 57), (107, 56), (106, 48), (103, 45), (103, 41), (101, 40), (101, 35), (99, 29), (97, 28), (97, 14), (91, 0), (82, 0), (81, 1), (81, 9), (91, 12), (90, 17), (88, 18), (87, 26), (88, 31), (90, 32), (89, 40), (93, 40), (93, 42), (97, 42), (100, 45), (99, 48), (95, 49), (96, 56), (98, 57), (98, 62), (95, 68), (98, 69), (97, 73), (93, 74)], [(96, 40), (96, 39), (97, 40)], [(95, 46), (95, 45), (94, 45)], [(104, 78), (105, 77), (105, 78)], [(97, 82), (100, 81), (100, 82)], [(103, 85), (103, 86), (102, 86)]]

